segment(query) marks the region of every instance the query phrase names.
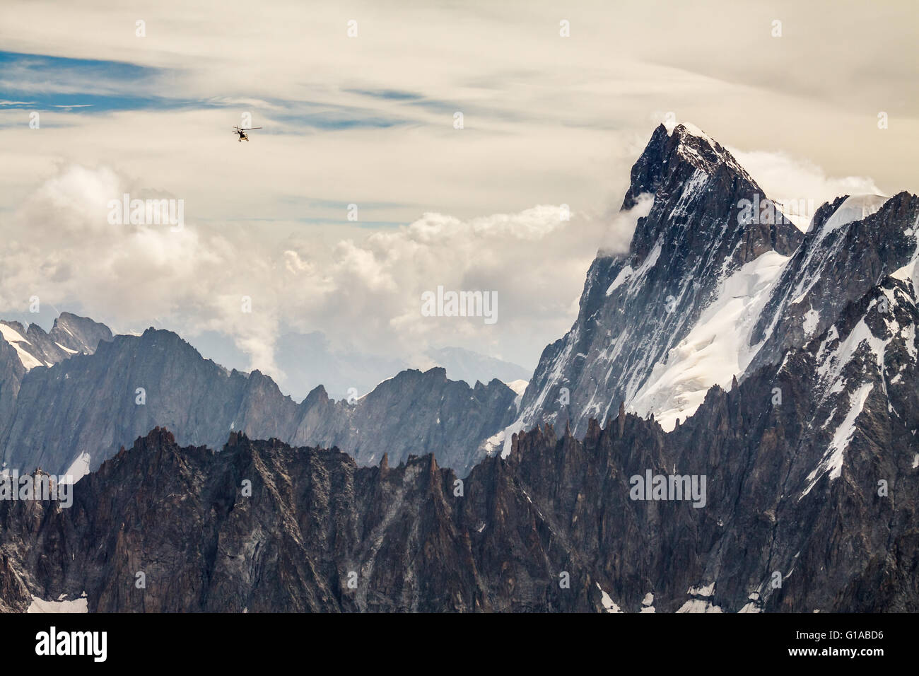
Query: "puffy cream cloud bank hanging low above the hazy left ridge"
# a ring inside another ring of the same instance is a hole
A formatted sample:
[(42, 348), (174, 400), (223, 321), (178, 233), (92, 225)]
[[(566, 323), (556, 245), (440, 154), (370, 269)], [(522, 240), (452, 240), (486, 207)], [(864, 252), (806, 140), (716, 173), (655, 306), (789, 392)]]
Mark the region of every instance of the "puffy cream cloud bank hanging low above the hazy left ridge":
[[(0, 250), (0, 306), (21, 311), (38, 295), (121, 332), (219, 331), (251, 368), (277, 376), (282, 329), (322, 330), (334, 345), (406, 361), (455, 345), (532, 365), (571, 322), (592, 243), (606, 228), (539, 205), (468, 220), (430, 212), (327, 242), (302, 230), (278, 239), (260, 237), (260, 224), (109, 223), (108, 202), (126, 192), (176, 199), (106, 166), (66, 166), (35, 189), (0, 221), (9, 243)], [(497, 324), (423, 316), (422, 293), (437, 286), (497, 292)]]

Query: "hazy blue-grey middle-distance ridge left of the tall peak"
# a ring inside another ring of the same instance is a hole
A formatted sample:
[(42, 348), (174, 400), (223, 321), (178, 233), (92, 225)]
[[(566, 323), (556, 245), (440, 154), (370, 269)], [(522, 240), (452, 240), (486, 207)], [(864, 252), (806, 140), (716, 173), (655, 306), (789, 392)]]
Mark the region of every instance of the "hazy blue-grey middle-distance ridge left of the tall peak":
[[(12, 376), (15, 367), (7, 366)], [(239, 430), (337, 446), (361, 464), (377, 464), (383, 453), (398, 463), (437, 448), (438, 462), (465, 475), (484, 456), (482, 441), (513, 419), (516, 399), (500, 381), (470, 387), (435, 368), (399, 373), (351, 404), (332, 401), (322, 386), (297, 404), (263, 373), (228, 372), (175, 333), (153, 328), (51, 368), (20, 370), (10, 381), (17, 391), (6, 397), (0, 390), (4, 460), (11, 469), (51, 474), (64, 474), (85, 454), (95, 470), (119, 446), (165, 426), (191, 445), (218, 447)]]

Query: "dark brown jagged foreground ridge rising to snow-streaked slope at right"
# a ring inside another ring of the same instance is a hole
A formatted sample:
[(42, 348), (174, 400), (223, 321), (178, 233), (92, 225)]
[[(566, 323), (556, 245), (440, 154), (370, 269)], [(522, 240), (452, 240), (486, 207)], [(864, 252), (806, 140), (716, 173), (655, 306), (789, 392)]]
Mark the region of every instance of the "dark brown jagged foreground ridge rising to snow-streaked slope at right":
[[(433, 455), (358, 467), (236, 432), (219, 453), (179, 448), (153, 430), (76, 484), (69, 509), (0, 501), (2, 602), (916, 612), (917, 321), (909, 282), (885, 278), (780, 366), (712, 388), (673, 432), (625, 412), (583, 441), (547, 426), (461, 485)], [(633, 499), (648, 473), (704, 476), (706, 490)]]

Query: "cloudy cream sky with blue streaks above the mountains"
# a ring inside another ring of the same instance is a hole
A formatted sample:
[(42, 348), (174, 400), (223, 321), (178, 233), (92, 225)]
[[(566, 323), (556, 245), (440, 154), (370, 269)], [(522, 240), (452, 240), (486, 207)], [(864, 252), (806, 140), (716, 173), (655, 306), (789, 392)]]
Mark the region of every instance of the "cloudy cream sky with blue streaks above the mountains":
[[(778, 200), (919, 192), (912, 2), (0, 12), (0, 316), (37, 296), (46, 328), (169, 328), (278, 377), (289, 331), (532, 369), (597, 249), (627, 249), (630, 166), (666, 119)], [(109, 223), (124, 193), (181, 200), (184, 226)], [(438, 286), (496, 292), (497, 321), (423, 315)]]

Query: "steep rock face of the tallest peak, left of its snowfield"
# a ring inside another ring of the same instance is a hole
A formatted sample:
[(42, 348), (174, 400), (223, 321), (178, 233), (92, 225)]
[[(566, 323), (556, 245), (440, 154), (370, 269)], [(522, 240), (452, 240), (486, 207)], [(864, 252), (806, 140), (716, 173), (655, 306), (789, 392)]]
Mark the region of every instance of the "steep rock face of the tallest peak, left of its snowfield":
[[(723, 281), (762, 256), (789, 256), (802, 239), (728, 151), (684, 125), (658, 127), (632, 167), (622, 209), (648, 201), (629, 254), (601, 254), (587, 272), (578, 318), (543, 352), (517, 429), (567, 419), (583, 435), (591, 418), (630, 406)], [(773, 217), (741, 223), (742, 201)]]

